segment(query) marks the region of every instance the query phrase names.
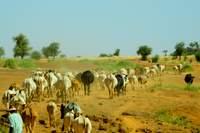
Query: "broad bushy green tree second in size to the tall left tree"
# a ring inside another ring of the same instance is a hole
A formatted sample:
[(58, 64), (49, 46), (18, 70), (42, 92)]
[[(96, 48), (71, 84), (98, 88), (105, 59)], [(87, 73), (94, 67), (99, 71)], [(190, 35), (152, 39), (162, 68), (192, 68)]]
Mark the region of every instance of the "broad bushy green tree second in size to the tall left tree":
[(47, 47), (43, 47), (42, 48), (42, 53), (46, 58), (49, 58), (50, 56), (52, 56), (53, 58), (55, 58), (56, 56), (59, 55), (60, 50), (59, 50), (59, 43), (57, 42), (53, 42), (51, 43), (49, 46)]

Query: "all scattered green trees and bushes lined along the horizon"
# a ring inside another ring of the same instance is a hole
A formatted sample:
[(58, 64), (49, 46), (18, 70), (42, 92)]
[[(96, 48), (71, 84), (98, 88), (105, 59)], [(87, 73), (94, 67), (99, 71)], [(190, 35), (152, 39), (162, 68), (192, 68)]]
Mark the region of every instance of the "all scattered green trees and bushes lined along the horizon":
[[(60, 44), (58, 42), (52, 42), (48, 46), (43, 47), (40, 51), (33, 50), (30, 46), (30, 42), (28, 38), (24, 34), (19, 34), (13, 37), (13, 41), (15, 46), (13, 48), (13, 56), (24, 58), (26, 56), (30, 56), (33, 59), (40, 59), (42, 56), (45, 58), (56, 58), (60, 55), (60, 57), (65, 57), (64, 54), (60, 51)], [(195, 55), (196, 60), (200, 62), (200, 43), (197, 41), (190, 42), (187, 46), (184, 42), (178, 42), (175, 45), (175, 50), (170, 55), (175, 59), (180, 59), (181, 57), (188, 55)], [(152, 48), (148, 45), (141, 45), (137, 54), (141, 56), (141, 60), (147, 60), (148, 56), (152, 53)], [(168, 50), (164, 49), (162, 51), (165, 56), (167, 56)], [(0, 47), (0, 58), (5, 55), (5, 50), (3, 47)], [(100, 57), (112, 57), (112, 56), (120, 56), (120, 49), (116, 49), (112, 54), (101, 53)], [(152, 57), (153, 62), (157, 62), (159, 60), (159, 55), (155, 55)]]

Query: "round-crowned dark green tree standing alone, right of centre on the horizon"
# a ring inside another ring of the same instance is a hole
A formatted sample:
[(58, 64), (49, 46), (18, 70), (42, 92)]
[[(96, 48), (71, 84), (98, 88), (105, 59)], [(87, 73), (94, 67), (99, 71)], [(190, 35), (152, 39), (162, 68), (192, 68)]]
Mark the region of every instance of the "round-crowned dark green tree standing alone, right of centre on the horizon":
[(142, 56), (142, 60), (147, 60), (147, 56), (150, 55), (152, 52), (152, 48), (148, 47), (147, 45), (140, 46), (137, 54)]

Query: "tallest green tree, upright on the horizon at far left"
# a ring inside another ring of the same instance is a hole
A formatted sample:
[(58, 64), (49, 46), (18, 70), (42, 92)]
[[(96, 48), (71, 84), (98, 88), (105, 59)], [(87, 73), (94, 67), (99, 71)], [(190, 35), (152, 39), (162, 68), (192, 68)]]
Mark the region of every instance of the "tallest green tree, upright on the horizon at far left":
[(13, 49), (14, 57), (20, 56), (23, 59), (24, 56), (29, 55), (31, 47), (29, 47), (29, 41), (25, 35), (19, 34), (13, 40), (16, 43)]

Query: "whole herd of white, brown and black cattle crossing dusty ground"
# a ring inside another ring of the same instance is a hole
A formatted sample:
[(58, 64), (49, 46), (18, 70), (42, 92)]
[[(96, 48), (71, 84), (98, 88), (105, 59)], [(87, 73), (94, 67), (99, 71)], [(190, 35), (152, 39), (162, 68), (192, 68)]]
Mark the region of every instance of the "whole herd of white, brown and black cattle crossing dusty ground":
[[(175, 65), (173, 69), (176, 72), (181, 72), (183, 64)], [(60, 73), (56, 70), (35, 70), (24, 79), (21, 86), (16, 83), (11, 84), (3, 94), (2, 103), (7, 109), (10, 105), (18, 108), (22, 114), (26, 131), (32, 132), (37, 118), (37, 113), (31, 106), (33, 101), (40, 102), (45, 98), (55, 97), (55, 101), (50, 101), (47, 104), (50, 127), (55, 128), (56, 112), (60, 110), (63, 119), (63, 131), (90, 133), (92, 124), (89, 118), (83, 115), (78, 104), (69, 102), (71, 98), (79, 95), (91, 95), (91, 84), (93, 82), (96, 82), (102, 90), (107, 90), (110, 99), (126, 95), (128, 85), (133, 90), (145, 87), (149, 79), (160, 76), (165, 71), (166, 66), (162, 64), (143, 67), (140, 71), (132, 68), (121, 68), (115, 72), (87, 70)], [(187, 76), (185, 81), (192, 83), (193, 78), (192, 75)]]

